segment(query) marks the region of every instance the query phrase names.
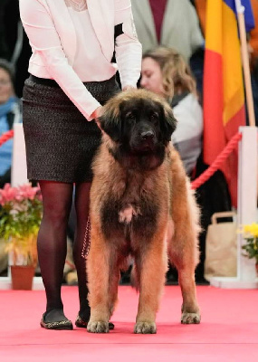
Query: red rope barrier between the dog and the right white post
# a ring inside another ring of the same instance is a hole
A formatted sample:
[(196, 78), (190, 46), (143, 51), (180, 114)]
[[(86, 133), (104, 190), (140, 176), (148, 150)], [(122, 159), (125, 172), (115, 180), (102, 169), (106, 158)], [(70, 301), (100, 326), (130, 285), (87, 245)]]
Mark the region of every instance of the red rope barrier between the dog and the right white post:
[(223, 165), (225, 159), (231, 154), (234, 148), (236, 148), (241, 138), (242, 133), (237, 133), (233, 138), (231, 138), (224, 150), (215, 158), (215, 161), (211, 164), (211, 166), (208, 167), (202, 175), (198, 176), (196, 180), (191, 183), (191, 186), (194, 190), (203, 185), (211, 176), (213, 176), (215, 171), (221, 165)]

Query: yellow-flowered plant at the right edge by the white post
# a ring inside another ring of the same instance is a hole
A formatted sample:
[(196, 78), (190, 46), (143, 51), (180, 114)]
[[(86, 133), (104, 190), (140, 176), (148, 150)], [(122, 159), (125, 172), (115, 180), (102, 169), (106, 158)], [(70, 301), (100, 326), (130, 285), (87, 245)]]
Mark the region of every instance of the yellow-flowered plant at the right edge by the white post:
[(258, 275), (258, 224), (244, 225), (244, 240), (242, 245), (244, 256), (249, 259), (255, 259), (255, 267)]

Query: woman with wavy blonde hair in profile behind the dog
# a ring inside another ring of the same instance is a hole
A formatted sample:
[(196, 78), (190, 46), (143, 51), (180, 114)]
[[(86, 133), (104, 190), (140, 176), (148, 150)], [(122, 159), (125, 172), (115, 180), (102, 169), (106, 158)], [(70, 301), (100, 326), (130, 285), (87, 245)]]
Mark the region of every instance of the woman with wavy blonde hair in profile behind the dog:
[(173, 108), (177, 129), (172, 142), (188, 176), (196, 167), (202, 149), (203, 111), (198, 102), (196, 81), (183, 56), (172, 48), (145, 52), (140, 86), (165, 97)]

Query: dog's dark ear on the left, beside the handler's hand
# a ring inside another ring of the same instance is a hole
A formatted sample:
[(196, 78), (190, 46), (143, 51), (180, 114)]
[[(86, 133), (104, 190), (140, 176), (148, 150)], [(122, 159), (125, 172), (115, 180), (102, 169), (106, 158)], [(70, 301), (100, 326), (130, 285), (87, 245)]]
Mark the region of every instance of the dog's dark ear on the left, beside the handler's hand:
[(100, 128), (107, 133), (113, 141), (118, 142), (121, 134), (119, 106), (107, 103), (99, 121)]

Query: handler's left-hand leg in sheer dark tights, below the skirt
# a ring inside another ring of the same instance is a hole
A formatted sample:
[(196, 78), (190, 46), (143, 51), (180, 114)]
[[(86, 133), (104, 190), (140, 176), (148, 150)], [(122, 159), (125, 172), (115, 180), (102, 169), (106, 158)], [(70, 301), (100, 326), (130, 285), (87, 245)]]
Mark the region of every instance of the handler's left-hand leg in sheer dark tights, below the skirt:
[(66, 319), (61, 286), (73, 186), (53, 181), (39, 184), (43, 195), (43, 220), (38, 234), (38, 257), (47, 300), (44, 321), (56, 322)]

